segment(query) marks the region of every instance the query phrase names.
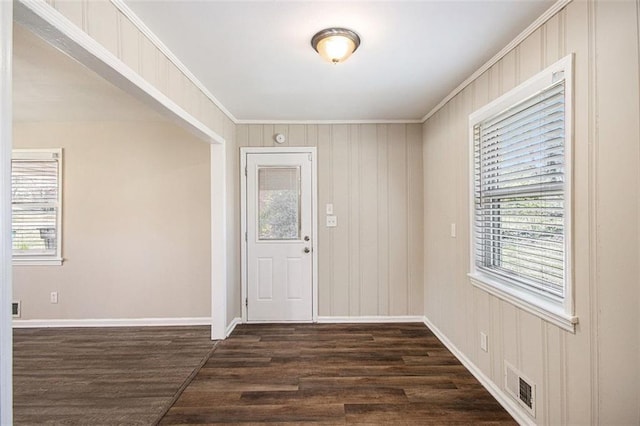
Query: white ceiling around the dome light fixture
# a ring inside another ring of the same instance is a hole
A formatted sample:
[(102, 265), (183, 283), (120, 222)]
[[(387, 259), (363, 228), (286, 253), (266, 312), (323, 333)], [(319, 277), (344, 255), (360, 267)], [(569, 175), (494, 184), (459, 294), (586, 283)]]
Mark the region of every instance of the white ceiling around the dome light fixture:
[[(126, 0), (240, 121), (420, 120), (554, 0)], [(310, 46), (355, 30), (345, 63)]]

